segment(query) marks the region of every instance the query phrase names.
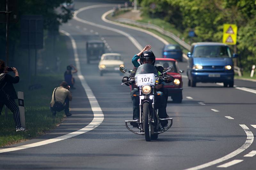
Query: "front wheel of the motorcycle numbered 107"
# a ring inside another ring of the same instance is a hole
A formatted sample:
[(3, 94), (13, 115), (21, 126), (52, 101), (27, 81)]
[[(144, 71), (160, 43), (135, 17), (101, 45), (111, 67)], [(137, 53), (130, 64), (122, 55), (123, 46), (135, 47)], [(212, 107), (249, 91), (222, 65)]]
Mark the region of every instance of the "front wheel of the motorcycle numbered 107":
[(149, 103), (143, 104), (143, 126), (145, 132), (145, 140), (151, 141), (151, 124), (150, 124), (150, 109)]

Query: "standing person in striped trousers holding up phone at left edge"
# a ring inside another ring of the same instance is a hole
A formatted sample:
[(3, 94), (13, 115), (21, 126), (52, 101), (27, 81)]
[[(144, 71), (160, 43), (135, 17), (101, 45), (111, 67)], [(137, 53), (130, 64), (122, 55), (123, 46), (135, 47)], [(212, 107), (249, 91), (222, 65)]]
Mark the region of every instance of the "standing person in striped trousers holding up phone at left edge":
[[(13, 71), (15, 76), (12, 77), (8, 72)], [(18, 99), (13, 84), (20, 81), (18, 70), (15, 67), (5, 67), (3, 60), (0, 60), (0, 115), (4, 105), (12, 111), (16, 131), (26, 131), (20, 124), (20, 110), (15, 102)]]

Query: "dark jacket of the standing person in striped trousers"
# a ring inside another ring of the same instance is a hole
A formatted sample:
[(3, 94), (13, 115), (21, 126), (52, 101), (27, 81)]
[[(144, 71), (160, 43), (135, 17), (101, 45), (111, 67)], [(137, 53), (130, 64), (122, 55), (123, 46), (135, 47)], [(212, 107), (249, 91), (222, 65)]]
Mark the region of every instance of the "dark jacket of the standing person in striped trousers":
[(12, 77), (11, 75), (4, 73), (0, 76), (0, 89), (2, 89), (4, 84), (7, 82), (3, 89), (4, 92), (8, 94), (12, 99), (18, 99), (18, 96), (12, 84), (18, 83), (19, 81), (19, 76)]

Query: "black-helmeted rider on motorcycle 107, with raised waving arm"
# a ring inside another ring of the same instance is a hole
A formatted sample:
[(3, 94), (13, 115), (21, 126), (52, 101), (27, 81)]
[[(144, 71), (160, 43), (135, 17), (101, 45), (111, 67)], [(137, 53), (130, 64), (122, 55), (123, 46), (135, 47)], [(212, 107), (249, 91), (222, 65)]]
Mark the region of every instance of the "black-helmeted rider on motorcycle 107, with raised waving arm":
[[(156, 57), (152, 51), (148, 51), (150, 48), (151, 48), (151, 46), (148, 45), (140, 53), (134, 55), (134, 57), (132, 58), (132, 63), (135, 66), (135, 68), (134, 68), (132, 74), (135, 74), (135, 72), (136, 72), (137, 68), (140, 66), (140, 64), (146, 64), (146, 63), (152, 64), (152, 65), (155, 64)], [(140, 64), (137, 61), (139, 58), (140, 58)], [(164, 68), (161, 66), (156, 67), (156, 69), (157, 69), (159, 75), (161, 74), (161, 72), (164, 71)], [(122, 79), (122, 82), (127, 82), (128, 79), (129, 79), (129, 77), (124, 77)], [(133, 83), (134, 82), (129, 82), (129, 83), (125, 83), (125, 84), (127, 86), (130, 86)], [(163, 87), (164, 87), (164, 82), (159, 82), (155, 86), (157, 93), (160, 94), (160, 96), (156, 96), (157, 97), (156, 108), (158, 108), (158, 110), (159, 110), (160, 118), (168, 117), (166, 114), (166, 99), (165, 99), (164, 93), (159, 91)], [(132, 89), (132, 92), (131, 92), (131, 98), (132, 98), (132, 104), (133, 104), (133, 120), (136, 120), (136, 119), (139, 119), (140, 99), (139, 99), (139, 96), (133, 96), (134, 94), (139, 95), (139, 90), (137, 88)], [(161, 124), (162, 124), (162, 126), (165, 126), (166, 124), (168, 124), (168, 121), (162, 121)], [(138, 124), (135, 122), (131, 122), (131, 125), (138, 126)]]

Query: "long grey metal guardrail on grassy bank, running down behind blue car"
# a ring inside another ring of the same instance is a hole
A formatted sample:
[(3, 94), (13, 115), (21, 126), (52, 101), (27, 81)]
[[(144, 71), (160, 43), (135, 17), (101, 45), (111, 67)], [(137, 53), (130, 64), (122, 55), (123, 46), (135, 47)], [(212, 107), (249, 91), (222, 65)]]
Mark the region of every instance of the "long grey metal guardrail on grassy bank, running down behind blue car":
[(121, 22), (121, 23), (136, 25), (136, 26), (143, 27), (143, 28), (149, 28), (149, 29), (156, 30), (156, 31), (158, 31), (158, 32), (160, 32), (160, 33), (162, 33), (162, 34), (172, 38), (174, 41), (176, 41), (178, 44), (180, 44), (181, 46), (183, 46), (187, 50), (190, 50), (190, 48), (191, 48), (191, 46), (189, 44), (187, 44), (186, 42), (181, 40), (175, 34), (173, 34), (172, 32), (169, 32), (169, 31), (165, 31), (163, 28), (161, 28), (161, 27), (159, 27), (157, 25), (141, 23), (141, 22), (133, 21), (131, 19), (127, 19), (127, 18), (119, 18), (119, 19), (116, 19), (116, 21), (117, 22)]

